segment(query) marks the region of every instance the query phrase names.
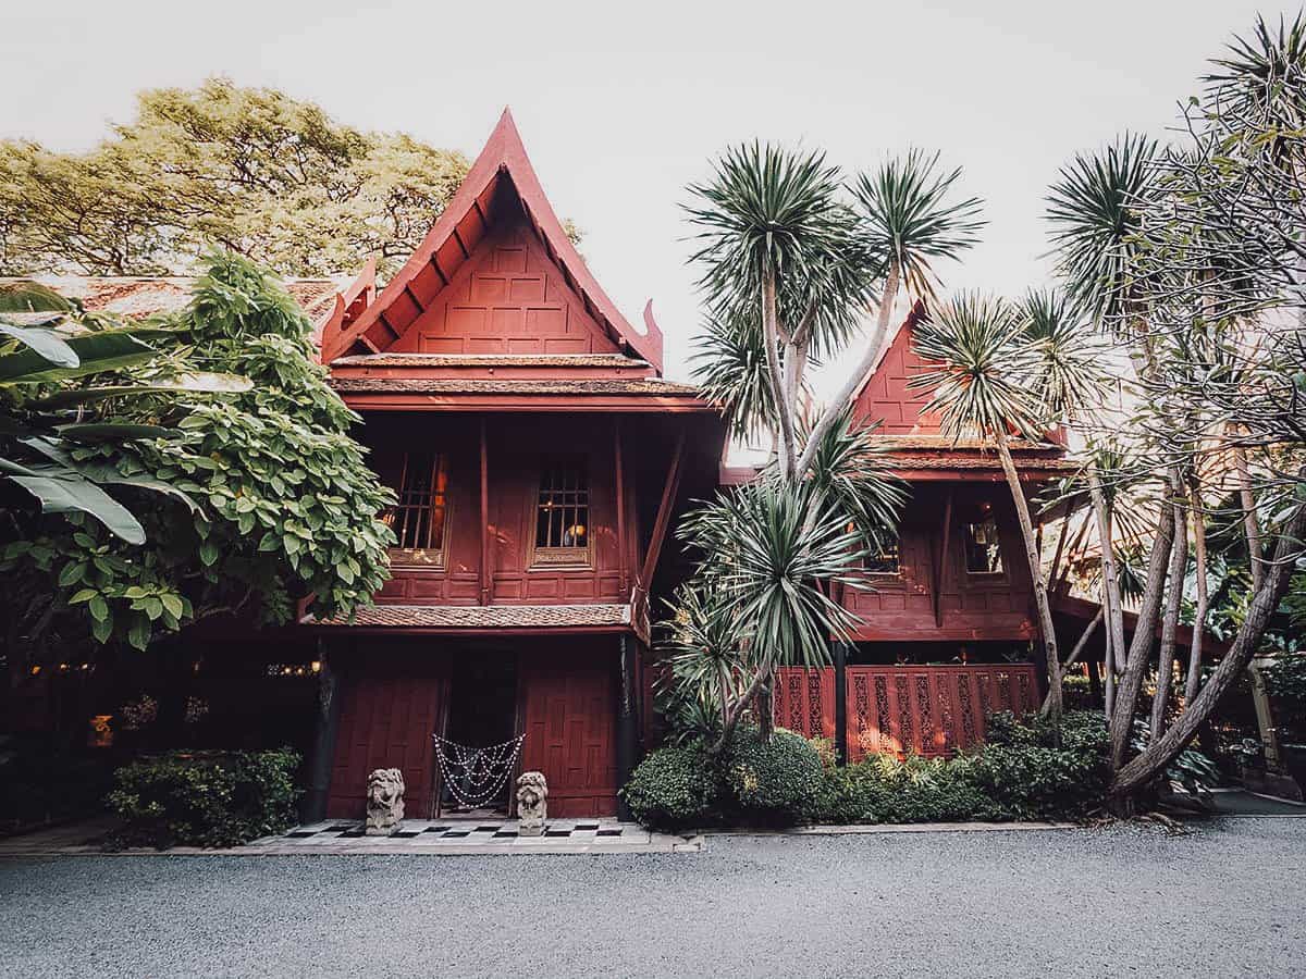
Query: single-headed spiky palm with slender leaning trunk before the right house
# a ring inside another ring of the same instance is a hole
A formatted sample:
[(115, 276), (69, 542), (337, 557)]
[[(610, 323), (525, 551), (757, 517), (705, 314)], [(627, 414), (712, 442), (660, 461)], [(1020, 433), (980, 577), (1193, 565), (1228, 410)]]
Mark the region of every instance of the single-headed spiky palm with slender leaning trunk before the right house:
[(944, 435), (977, 435), (993, 440), (1002, 459), (1034, 585), (1040, 633), (1047, 660), (1047, 710), (1054, 724), (1062, 715), (1060, 659), (1053, 627), (1047, 581), (1029, 514), (1029, 501), (1011, 456), (1011, 436), (1042, 437), (1043, 406), (1037, 401), (1040, 349), (1028, 339), (1019, 307), (974, 292), (961, 294), (931, 309), (916, 335), (917, 351), (934, 362), (931, 371), (910, 381), (931, 389), (925, 411), (938, 411)]

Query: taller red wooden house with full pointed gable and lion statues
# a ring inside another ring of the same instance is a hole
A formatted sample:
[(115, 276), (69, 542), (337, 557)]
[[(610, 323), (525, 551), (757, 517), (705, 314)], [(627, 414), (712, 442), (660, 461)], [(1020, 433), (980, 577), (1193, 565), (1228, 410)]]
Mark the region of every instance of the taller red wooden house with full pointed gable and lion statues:
[(308, 623), (334, 688), (311, 808), (357, 816), (368, 771), (394, 766), (409, 812), (432, 813), (439, 732), (524, 734), (551, 813), (616, 812), (662, 544), (714, 488), (725, 439), (661, 377), (644, 322), (567, 239), (508, 112), (404, 269), (337, 299), (321, 359), (398, 496), (398, 547), (375, 607)]

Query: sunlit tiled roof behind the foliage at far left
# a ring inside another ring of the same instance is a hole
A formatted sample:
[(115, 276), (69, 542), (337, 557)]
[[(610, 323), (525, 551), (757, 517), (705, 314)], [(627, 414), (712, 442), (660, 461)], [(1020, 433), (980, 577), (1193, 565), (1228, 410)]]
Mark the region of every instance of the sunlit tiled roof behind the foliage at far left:
[[(65, 299), (81, 300), (88, 309), (140, 320), (185, 307), (196, 279), (195, 275), (30, 275), (0, 278), (0, 285), (35, 281)], [(293, 278), (282, 285), (310, 319), (316, 319), (330, 308), (337, 290), (349, 285), (349, 278)]]

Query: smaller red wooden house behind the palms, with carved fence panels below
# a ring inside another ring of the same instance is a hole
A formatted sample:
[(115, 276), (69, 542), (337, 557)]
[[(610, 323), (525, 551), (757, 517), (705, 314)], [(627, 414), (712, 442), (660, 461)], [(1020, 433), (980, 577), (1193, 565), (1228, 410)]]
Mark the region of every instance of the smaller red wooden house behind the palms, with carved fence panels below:
[[(990, 710), (1036, 709), (1045, 683), (1033, 582), (996, 453), (940, 433), (909, 381), (929, 365), (912, 346), (917, 304), (854, 396), (858, 420), (910, 486), (897, 542), (867, 565), (871, 590), (846, 589), (853, 642), (835, 667), (788, 670), (776, 721), (867, 752), (948, 754), (983, 739)], [(1027, 496), (1072, 473), (1057, 441), (1017, 441)]]

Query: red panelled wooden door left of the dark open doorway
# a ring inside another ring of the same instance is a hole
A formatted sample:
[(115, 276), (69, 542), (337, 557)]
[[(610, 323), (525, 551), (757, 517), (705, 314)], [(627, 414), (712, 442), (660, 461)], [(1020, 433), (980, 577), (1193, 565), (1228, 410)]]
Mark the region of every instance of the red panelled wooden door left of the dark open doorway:
[(431, 813), (435, 747), (448, 672), (428, 663), (421, 675), (345, 675), (340, 734), (326, 815), (362, 818), (367, 809), (367, 775), (375, 769), (404, 773), (405, 815)]

